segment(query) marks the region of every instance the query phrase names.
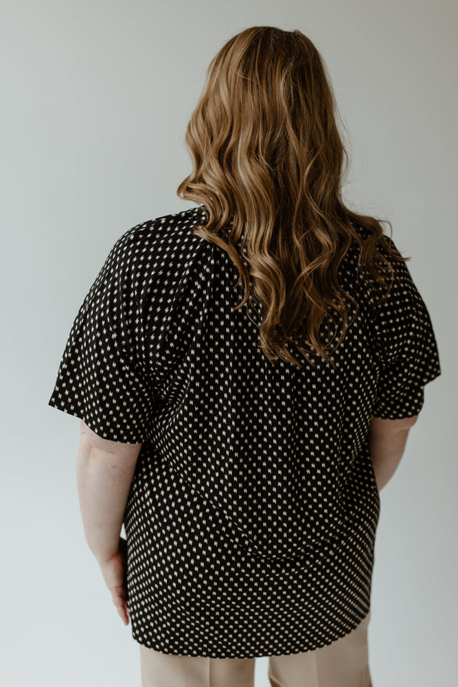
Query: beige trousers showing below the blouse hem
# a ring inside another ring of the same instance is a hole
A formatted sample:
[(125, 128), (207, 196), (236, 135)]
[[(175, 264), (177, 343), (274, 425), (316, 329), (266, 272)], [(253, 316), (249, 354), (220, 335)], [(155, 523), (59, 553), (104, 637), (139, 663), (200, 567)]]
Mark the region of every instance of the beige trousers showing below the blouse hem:
[[(269, 656), (271, 687), (372, 687), (367, 626), (315, 651)], [(160, 653), (139, 644), (141, 687), (254, 687), (255, 658), (203, 658)]]

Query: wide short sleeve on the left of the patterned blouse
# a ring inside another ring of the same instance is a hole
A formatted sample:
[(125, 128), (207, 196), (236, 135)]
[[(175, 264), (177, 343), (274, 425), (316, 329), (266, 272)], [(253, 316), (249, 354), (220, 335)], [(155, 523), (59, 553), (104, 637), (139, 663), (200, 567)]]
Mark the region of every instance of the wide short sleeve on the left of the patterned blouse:
[(85, 297), (48, 405), (104, 439), (139, 444), (148, 436), (154, 399), (134, 353), (132, 237), (130, 229), (117, 240)]

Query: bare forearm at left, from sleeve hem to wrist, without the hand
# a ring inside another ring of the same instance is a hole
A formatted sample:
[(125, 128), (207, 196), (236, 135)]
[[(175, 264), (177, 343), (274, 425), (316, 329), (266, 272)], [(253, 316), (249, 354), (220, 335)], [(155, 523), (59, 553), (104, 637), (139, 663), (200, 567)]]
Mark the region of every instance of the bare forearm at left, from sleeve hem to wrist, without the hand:
[(80, 442), (77, 462), (78, 496), (89, 548), (106, 561), (119, 548), (124, 510), (135, 472), (136, 458)]

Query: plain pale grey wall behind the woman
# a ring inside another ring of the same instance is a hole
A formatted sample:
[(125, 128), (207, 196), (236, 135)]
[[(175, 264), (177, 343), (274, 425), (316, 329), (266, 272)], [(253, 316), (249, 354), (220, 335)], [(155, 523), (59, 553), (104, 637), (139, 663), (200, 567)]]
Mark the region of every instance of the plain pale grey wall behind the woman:
[[(299, 28), (321, 52), (352, 158), (345, 198), (392, 222), (439, 344), (442, 375), (426, 386), (380, 493), (374, 687), (452, 684), (457, 5), (15, 0), (1, 16), (0, 682), (140, 685), (130, 624), (84, 539), (79, 420), (47, 401), (73, 319), (117, 238), (192, 207), (176, 187), (191, 170), (185, 128), (211, 58), (244, 28), (275, 25)], [(268, 685), (265, 657), (256, 685)]]

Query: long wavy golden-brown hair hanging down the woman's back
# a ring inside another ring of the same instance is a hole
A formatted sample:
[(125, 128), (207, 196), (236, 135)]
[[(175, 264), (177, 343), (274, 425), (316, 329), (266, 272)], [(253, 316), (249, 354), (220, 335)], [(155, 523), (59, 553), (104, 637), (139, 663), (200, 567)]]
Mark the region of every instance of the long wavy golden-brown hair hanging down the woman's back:
[[(193, 233), (227, 251), (244, 284), (242, 300), (258, 313), (258, 347), (271, 363), (301, 366), (328, 351), (339, 332), (321, 339), (336, 313), (341, 335), (359, 306), (339, 284), (352, 243), (358, 270), (391, 289), (393, 260), (403, 258), (382, 222), (345, 207), (341, 188), (349, 157), (336, 126), (337, 106), (325, 65), (299, 30), (250, 27), (211, 60), (185, 142), (194, 163), (176, 194), (205, 208)], [(345, 160), (345, 167), (343, 163)], [(390, 274), (390, 280), (387, 279)], [(350, 304), (356, 307), (349, 320)], [(250, 319), (251, 316), (249, 315)], [(253, 322), (255, 320), (252, 319)]]

